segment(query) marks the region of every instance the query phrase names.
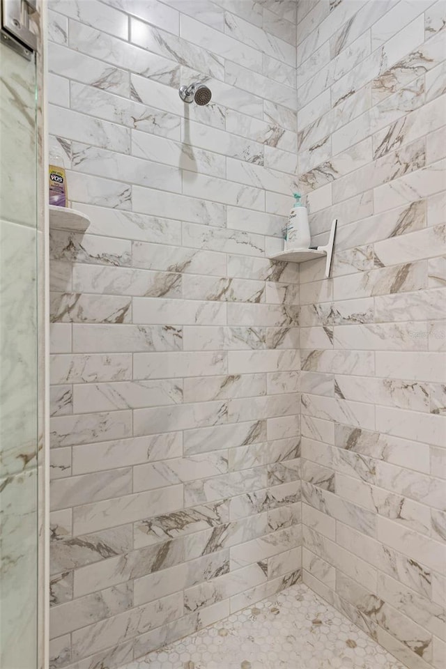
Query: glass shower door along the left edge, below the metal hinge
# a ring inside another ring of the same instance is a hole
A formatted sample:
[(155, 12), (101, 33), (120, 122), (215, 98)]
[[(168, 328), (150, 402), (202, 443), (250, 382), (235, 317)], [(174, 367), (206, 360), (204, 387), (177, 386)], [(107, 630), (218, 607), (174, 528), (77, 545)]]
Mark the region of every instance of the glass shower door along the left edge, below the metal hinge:
[[(38, 229), (36, 56), (0, 43), (0, 667), (36, 669)], [(8, 40), (8, 38), (6, 38)]]

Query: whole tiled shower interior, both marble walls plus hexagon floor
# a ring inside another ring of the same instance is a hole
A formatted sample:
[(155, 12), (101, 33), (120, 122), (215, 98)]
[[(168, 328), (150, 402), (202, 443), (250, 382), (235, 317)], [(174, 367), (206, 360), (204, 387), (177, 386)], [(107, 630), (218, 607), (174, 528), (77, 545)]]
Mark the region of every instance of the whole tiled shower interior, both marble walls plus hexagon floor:
[[(43, 5), (82, 217), (46, 229), (47, 665), (4, 669), (444, 669), (446, 1)], [(271, 259), (296, 191), (329, 277)]]

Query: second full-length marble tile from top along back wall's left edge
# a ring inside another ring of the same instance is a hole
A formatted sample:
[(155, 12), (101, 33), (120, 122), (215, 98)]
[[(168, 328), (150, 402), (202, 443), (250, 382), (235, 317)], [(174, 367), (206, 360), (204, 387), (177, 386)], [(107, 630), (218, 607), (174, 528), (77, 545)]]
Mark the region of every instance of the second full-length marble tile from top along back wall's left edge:
[(130, 75), (118, 67), (110, 67), (104, 61), (91, 58), (63, 45), (49, 41), (48, 61), (50, 71), (63, 72), (65, 77), (89, 84), (98, 89), (112, 91), (118, 95), (130, 95)]

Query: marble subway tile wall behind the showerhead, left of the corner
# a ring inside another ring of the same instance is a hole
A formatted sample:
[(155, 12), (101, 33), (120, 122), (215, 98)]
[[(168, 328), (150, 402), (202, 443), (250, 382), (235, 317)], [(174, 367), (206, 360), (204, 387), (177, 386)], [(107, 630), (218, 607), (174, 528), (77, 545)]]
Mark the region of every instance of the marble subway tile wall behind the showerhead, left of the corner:
[[(296, 3), (50, 0), (51, 667), (301, 576)], [(206, 82), (207, 107), (180, 84)]]

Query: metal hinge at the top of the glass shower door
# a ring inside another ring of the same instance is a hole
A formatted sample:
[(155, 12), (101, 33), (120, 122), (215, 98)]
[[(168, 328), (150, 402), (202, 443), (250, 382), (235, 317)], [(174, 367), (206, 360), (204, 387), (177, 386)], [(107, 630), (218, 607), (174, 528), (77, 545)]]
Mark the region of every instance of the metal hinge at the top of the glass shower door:
[(36, 10), (36, 0), (1, 0), (1, 41), (28, 60), (37, 49), (29, 27), (29, 15)]

